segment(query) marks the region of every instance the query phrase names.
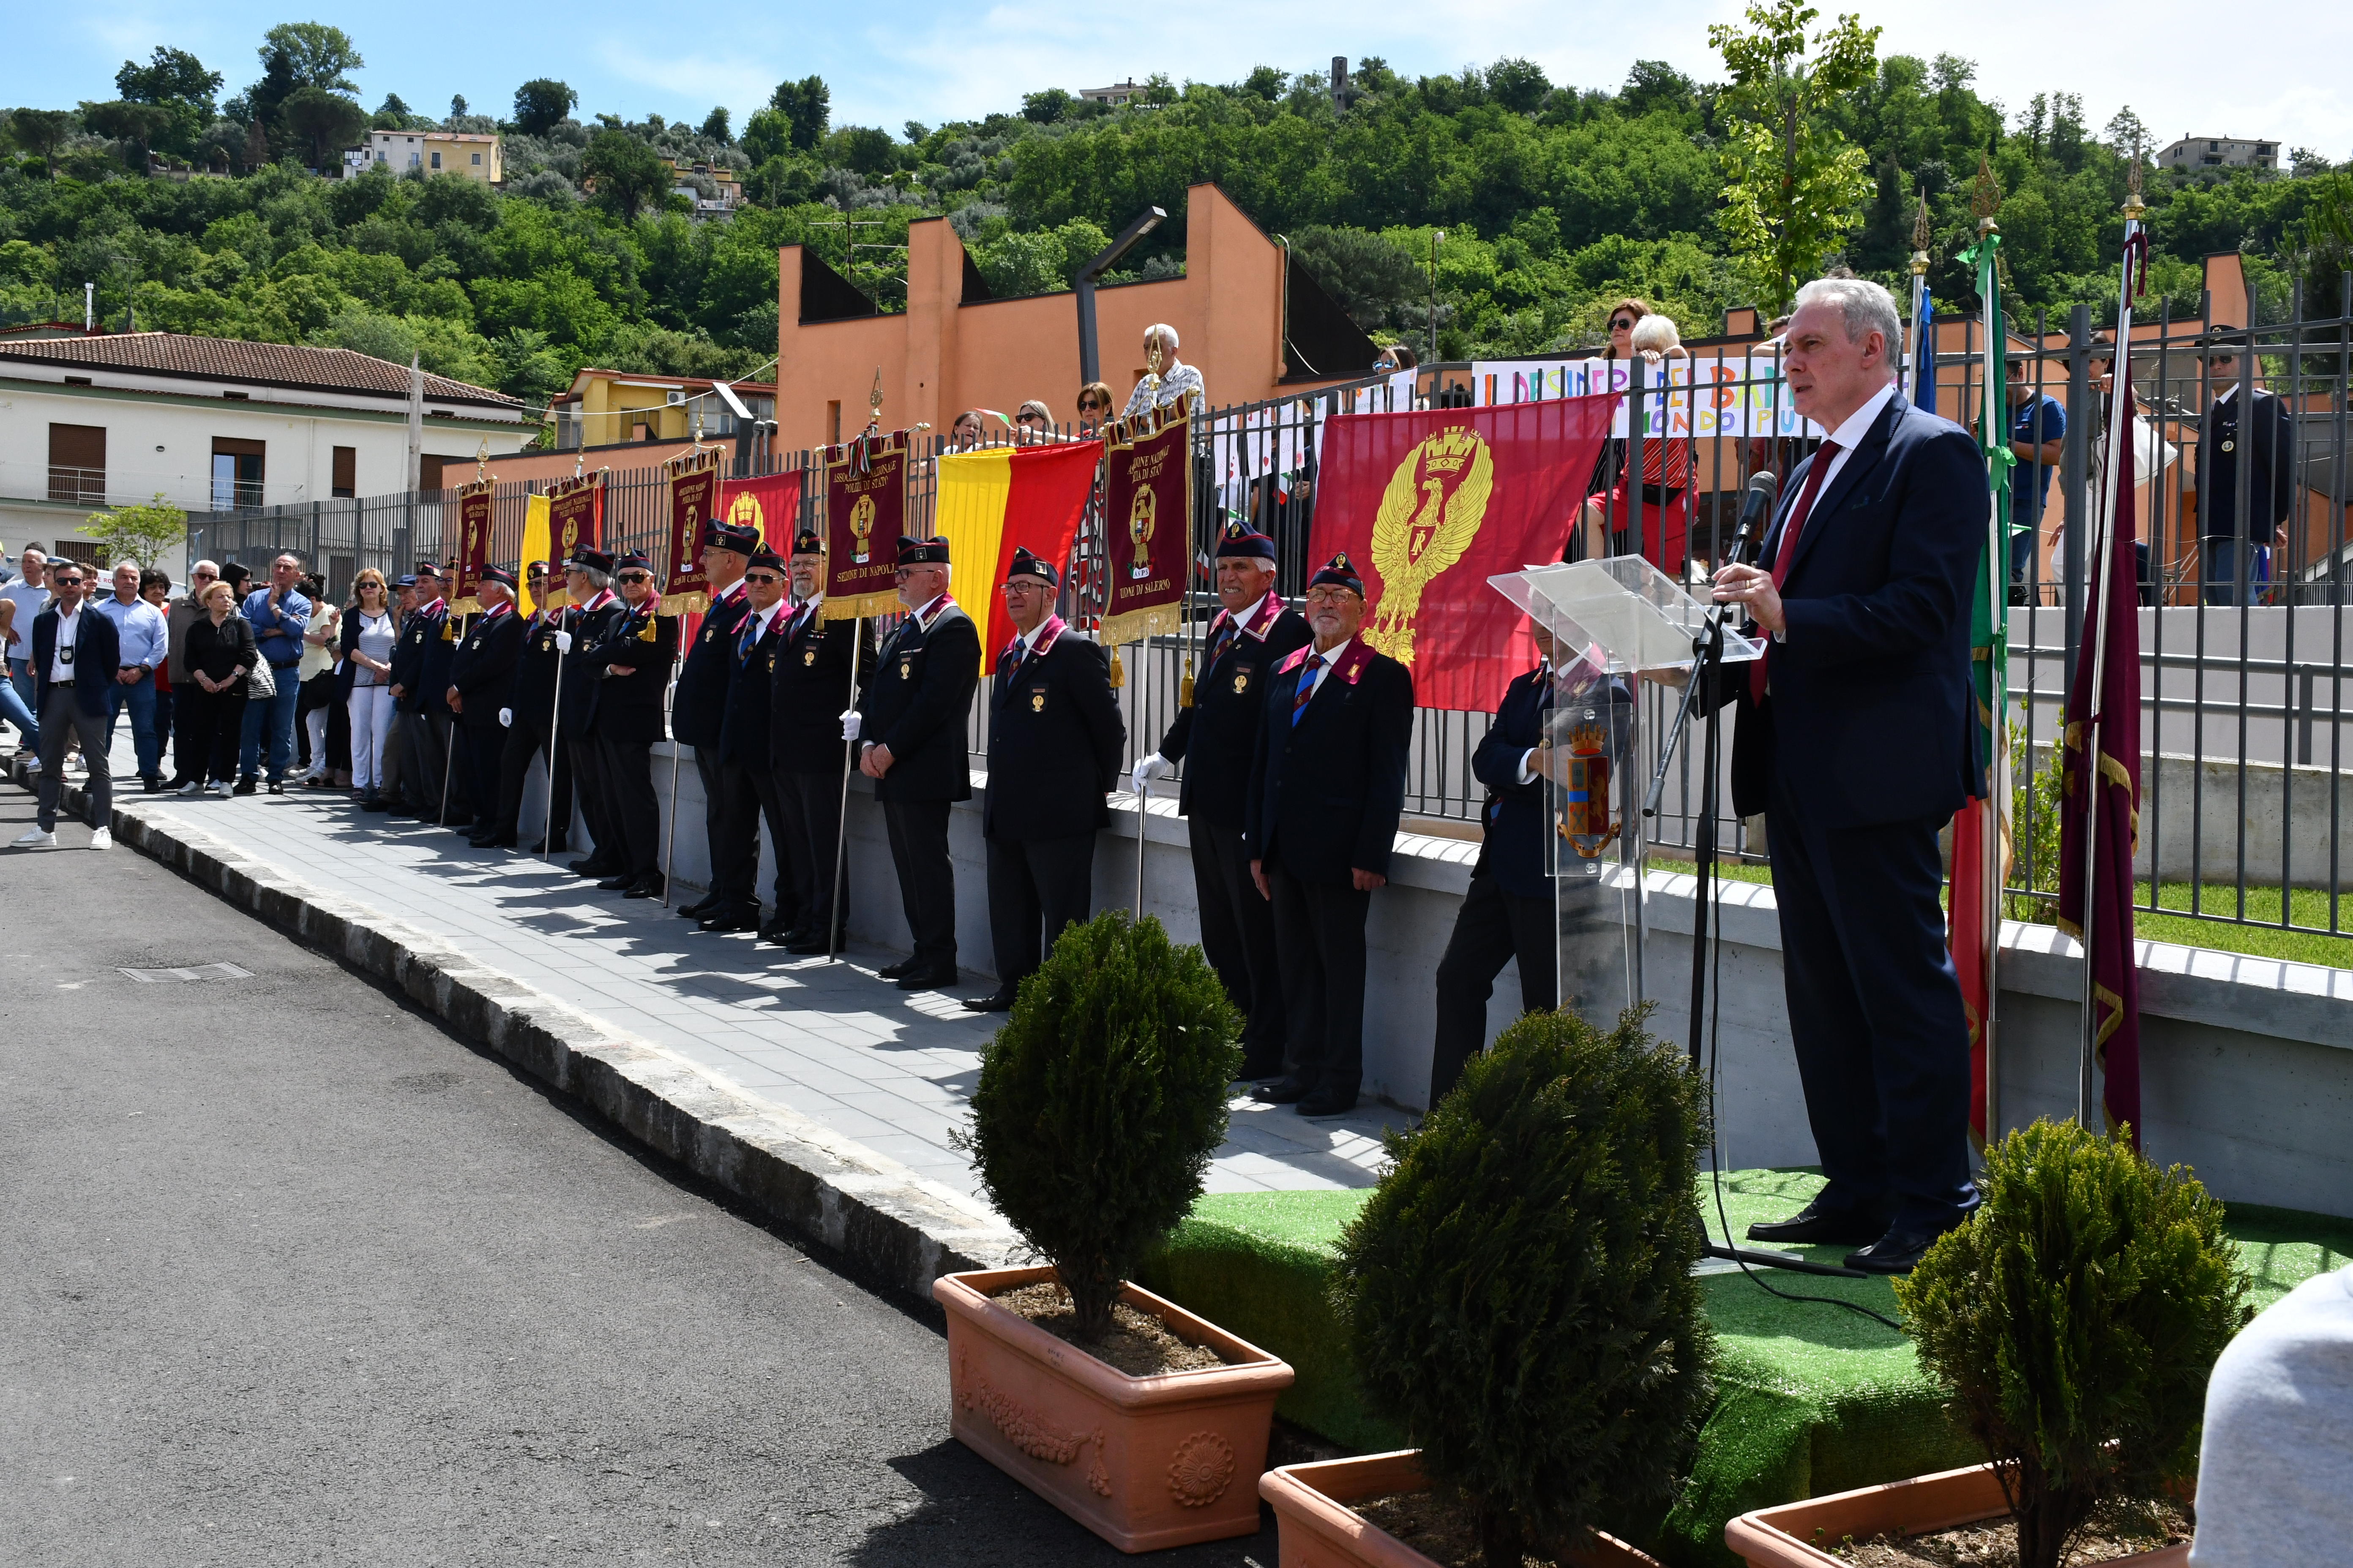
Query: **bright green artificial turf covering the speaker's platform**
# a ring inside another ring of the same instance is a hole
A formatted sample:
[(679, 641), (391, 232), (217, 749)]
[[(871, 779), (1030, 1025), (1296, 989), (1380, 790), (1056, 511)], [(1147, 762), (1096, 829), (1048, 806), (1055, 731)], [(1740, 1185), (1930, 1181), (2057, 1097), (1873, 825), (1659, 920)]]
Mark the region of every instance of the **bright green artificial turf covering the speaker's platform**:
[[(1732, 1234), (1795, 1213), (1821, 1187), (1800, 1168), (1727, 1171)], [(1365, 1192), (1228, 1192), (1195, 1204), (1136, 1279), (1181, 1307), (1292, 1363), (1278, 1410), (1355, 1453), (1402, 1448), (1405, 1434), (1365, 1408), (1348, 1347), (1325, 1295), (1334, 1246)], [(1708, 1232), (1722, 1239), (1718, 1187), (1699, 1182)], [(2353, 1220), (2235, 1206), (2257, 1309), (2318, 1272), (2353, 1262)], [(1784, 1248), (1838, 1262), (1842, 1246)], [(1795, 1295), (1828, 1295), (1897, 1316), (1885, 1279), (1821, 1279), (1760, 1269)], [(1682, 1495), (1664, 1519), (1628, 1521), (1668, 1563), (1734, 1563), (1725, 1521), (1798, 1497), (1972, 1465), (1911, 1342), (1845, 1307), (1777, 1300), (1739, 1272), (1701, 1279), (1715, 1331), (1718, 1399), (1699, 1434)]]

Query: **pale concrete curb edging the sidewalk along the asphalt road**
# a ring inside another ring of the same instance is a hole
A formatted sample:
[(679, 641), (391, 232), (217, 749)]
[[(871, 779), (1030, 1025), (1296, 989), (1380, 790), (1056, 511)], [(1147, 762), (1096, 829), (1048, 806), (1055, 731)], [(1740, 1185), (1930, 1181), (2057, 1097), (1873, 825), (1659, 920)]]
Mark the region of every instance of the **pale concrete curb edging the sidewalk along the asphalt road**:
[[(9, 759), (7, 776), (31, 788), (21, 759)], [(82, 811), (87, 799), (68, 783), (61, 816)], [(113, 835), (758, 1204), (871, 1284), (929, 1305), (941, 1274), (1026, 1258), (1012, 1227), (976, 1199), (485, 969), (445, 938), (289, 877), (209, 832), (151, 820), (132, 802), (115, 802)]]

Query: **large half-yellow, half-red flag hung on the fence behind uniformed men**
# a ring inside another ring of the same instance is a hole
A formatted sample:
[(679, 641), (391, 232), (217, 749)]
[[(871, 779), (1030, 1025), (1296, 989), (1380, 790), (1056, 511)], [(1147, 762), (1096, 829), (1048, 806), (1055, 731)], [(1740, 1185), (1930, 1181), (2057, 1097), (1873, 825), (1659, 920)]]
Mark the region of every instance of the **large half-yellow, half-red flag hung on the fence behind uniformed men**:
[[(1104, 442), (995, 447), (939, 458), (934, 527), (948, 541), (958, 597), (976, 621), (986, 614), (984, 670), (1012, 637), (998, 583), (1005, 581), (1014, 550), (1054, 562), (1056, 571), (1068, 564), (1101, 458)], [(1184, 527), (1176, 520), (1179, 536)]]

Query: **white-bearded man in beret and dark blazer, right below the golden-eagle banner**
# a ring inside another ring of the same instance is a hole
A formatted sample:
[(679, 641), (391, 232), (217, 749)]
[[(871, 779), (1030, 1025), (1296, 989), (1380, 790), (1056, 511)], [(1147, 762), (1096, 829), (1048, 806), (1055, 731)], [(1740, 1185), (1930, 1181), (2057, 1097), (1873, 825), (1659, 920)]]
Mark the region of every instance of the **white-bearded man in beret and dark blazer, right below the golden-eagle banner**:
[(1358, 642), (1365, 581), (1334, 555), (1308, 578), (1308, 628), (1266, 684), (1242, 842), (1275, 905), (1289, 1025), (1282, 1077), (1259, 1091), (1301, 1117), (1355, 1107), (1365, 1077), (1365, 917), (1405, 811), (1414, 677)]

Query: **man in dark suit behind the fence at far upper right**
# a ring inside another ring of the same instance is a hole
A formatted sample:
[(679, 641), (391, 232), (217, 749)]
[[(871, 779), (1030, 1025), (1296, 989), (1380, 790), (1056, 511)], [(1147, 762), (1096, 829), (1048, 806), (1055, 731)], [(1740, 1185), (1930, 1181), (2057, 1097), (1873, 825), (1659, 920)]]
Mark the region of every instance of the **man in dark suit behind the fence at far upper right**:
[[(2238, 336), (2228, 336), (2238, 334)], [(2287, 545), (2297, 505), (2297, 416), (2287, 400), (2252, 388), (2240, 397), (2238, 327), (2207, 339), (2209, 402), (2198, 421), (2198, 536), (2207, 604), (2254, 604), (2271, 581), (2271, 550)], [(2240, 458), (2247, 463), (2247, 515), (2238, 515)], [(2257, 543), (2261, 541), (2261, 543)]]

